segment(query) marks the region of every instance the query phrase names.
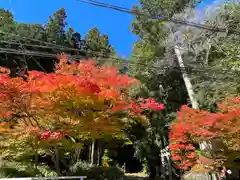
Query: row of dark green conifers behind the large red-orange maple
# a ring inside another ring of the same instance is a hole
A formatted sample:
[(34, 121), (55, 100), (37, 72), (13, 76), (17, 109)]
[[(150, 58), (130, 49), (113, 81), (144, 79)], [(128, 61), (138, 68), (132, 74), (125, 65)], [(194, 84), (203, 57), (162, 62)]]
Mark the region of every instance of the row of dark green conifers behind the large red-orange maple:
[[(62, 52), (84, 59), (99, 57), (101, 64), (105, 63), (108, 55), (114, 52), (108, 36), (100, 35), (97, 28), (90, 30), (85, 38), (82, 38), (80, 33), (74, 31), (73, 28), (66, 30), (67, 16), (63, 8), (50, 16), (45, 26), (15, 22), (13, 15), (3, 9), (0, 15), (0, 38), (8, 41), (7, 43), (0, 42), (0, 46), (7, 48), (8, 51), (9, 49), (17, 51), (17, 53), (9, 53), (6, 50), (3, 53), (0, 52), (0, 63), (10, 67), (13, 76), (26, 74), (27, 69), (53, 72), (58, 61), (55, 54)], [(47, 43), (56, 44), (56, 46), (53, 45), (53, 48), (50, 48)], [(59, 45), (69, 49), (60, 49)], [(71, 50), (71, 48), (76, 50)], [(19, 54), (19, 51), (30, 51), (33, 54), (23, 55)], [(96, 53), (99, 54), (96, 56)]]

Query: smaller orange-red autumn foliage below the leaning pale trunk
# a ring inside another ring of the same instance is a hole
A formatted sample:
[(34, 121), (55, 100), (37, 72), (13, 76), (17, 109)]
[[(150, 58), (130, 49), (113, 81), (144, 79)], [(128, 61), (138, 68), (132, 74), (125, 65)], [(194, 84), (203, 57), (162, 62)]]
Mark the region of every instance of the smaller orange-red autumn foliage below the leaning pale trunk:
[(197, 163), (194, 144), (218, 139), (229, 150), (240, 151), (240, 98), (229, 98), (218, 104), (219, 112), (196, 110), (183, 106), (171, 126), (170, 149), (179, 168), (188, 170)]

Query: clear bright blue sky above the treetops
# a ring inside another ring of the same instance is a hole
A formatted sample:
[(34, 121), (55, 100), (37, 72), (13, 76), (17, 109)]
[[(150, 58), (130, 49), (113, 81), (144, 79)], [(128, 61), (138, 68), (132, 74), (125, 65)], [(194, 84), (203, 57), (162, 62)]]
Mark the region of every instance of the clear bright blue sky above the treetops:
[[(213, 0), (204, 0), (199, 8)], [(101, 0), (101, 2), (131, 8), (138, 0)], [(131, 33), (132, 15), (82, 4), (77, 0), (0, 0), (0, 8), (8, 9), (17, 21), (24, 23), (47, 23), (56, 10), (65, 8), (70, 27), (85, 35), (94, 26), (108, 34), (111, 44), (121, 56), (131, 53), (137, 37)]]

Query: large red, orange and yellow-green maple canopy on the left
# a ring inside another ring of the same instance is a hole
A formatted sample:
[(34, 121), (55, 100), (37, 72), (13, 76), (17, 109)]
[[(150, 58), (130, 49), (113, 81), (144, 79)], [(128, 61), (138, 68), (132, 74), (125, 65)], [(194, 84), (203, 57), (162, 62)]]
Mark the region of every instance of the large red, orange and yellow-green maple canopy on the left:
[(1, 72), (2, 136), (34, 146), (66, 137), (120, 135), (124, 118), (146, 121), (145, 110), (164, 109), (154, 99), (131, 99), (129, 90), (139, 82), (95, 61), (68, 65), (61, 58), (55, 73), (30, 71), (27, 80)]

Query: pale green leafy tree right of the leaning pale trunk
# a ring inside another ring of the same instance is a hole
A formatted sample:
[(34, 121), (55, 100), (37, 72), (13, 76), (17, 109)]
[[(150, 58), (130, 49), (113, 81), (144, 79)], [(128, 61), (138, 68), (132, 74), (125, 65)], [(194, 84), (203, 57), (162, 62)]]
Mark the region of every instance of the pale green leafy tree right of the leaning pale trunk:
[[(206, 11), (204, 23), (230, 32), (240, 30), (239, 17), (239, 3), (223, 3)], [(184, 53), (185, 61), (205, 69), (197, 76), (192, 75), (200, 106), (216, 111), (216, 102), (240, 93), (239, 35), (189, 27), (183, 27), (180, 32), (180, 43), (189, 48)]]

